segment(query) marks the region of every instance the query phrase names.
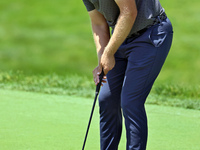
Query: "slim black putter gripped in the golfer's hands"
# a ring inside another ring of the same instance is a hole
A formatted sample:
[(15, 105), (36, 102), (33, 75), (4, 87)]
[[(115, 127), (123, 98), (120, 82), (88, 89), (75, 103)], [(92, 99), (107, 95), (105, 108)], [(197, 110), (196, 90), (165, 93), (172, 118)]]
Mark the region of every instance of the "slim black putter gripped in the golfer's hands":
[(101, 74), (99, 75), (99, 83), (96, 86), (94, 103), (93, 103), (93, 106), (92, 106), (92, 111), (91, 111), (91, 114), (90, 114), (90, 119), (89, 119), (89, 122), (88, 122), (88, 127), (87, 127), (87, 131), (86, 131), (86, 134), (85, 134), (85, 139), (84, 139), (84, 142), (83, 142), (82, 150), (84, 150), (84, 148), (85, 148), (85, 143), (86, 143), (88, 131), (89, 131), (89, 128), (90, 128), (90, 123), (91, 123), (91, 120), (92, 120), (92, 115), (93, 115), (93, 112), (94, 112), (94, 107), (95, 107), (95, 104), (96, 104), (96, 101), (97, 101), (97, 97), (99, 95), (99, 91), (100, 91), (100, 88), (101, 88), (101, 82), (102, 82), (103, 76), (104, 76), (104, 72), (102, 70)]

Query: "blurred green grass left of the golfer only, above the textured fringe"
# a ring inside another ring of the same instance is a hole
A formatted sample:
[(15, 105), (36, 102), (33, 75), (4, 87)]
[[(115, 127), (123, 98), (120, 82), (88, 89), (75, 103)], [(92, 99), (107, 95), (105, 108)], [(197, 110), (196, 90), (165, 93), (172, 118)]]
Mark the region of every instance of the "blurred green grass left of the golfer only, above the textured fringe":
[(0, 69), (89, 72), (96, 52), (82, 2), (8, 0), (0, 7)]

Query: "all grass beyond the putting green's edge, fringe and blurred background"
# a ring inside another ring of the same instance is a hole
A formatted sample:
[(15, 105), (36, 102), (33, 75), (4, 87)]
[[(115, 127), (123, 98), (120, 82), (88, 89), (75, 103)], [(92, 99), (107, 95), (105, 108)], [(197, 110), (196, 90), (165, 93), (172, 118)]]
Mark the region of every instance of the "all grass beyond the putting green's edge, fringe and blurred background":
[[(200, 1), (160, 1), (174, 39), (151, 103), (200, 109)], [(93, 96), (97, 57), (82, 1), (2, 0), (0, 14), (0, 88)]]

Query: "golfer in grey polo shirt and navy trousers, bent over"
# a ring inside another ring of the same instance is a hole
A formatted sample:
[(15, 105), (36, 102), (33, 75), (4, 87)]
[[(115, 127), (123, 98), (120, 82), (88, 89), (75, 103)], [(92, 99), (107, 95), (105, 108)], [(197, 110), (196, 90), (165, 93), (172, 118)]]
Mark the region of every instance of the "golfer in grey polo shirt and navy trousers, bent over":
[[(104, 70), (99, 95), (101, 150), (117, 150), (126, 127), (126, 149), (145, 150), (144, 103), (172, 43), (173, 29), (159, 0), (83, 0), (98, 55), (94, 82)], [(112, 29), (112, 36), (110, 30)]]

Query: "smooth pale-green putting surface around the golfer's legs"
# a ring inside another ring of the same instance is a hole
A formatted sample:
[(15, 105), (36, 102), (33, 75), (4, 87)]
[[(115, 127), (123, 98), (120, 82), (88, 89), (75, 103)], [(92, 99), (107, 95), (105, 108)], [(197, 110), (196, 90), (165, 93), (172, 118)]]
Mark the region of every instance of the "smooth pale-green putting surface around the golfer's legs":
[[(0, 90), (0, 149), (79, 150), (93, 99)], [(147, 150), (199, 150), (200, 112), (146, 105)], [(98, 106), (86, 150), (99, 149)], [(123, 130), (124, 131), (124, 130)], [(125, 131), (119, 150), (125, 150)]]

